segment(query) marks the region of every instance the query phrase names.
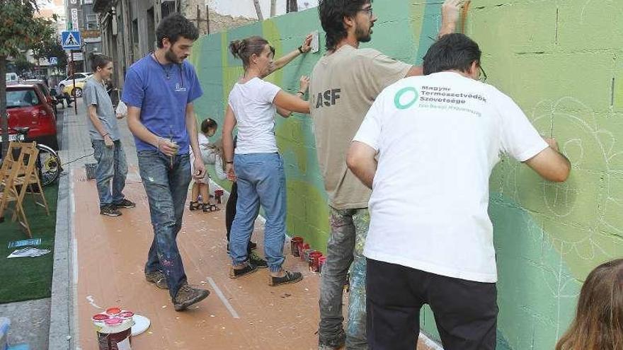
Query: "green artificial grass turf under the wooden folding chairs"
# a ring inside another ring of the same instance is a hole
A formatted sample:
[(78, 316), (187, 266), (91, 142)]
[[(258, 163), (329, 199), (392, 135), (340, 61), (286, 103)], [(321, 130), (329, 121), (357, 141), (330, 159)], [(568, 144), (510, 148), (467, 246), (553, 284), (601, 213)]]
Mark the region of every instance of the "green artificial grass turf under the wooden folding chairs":
[[(11, 221), (12, 211), (5, 211), (4, 222), (0, 223), (0, 304), (13, 301), (28, 301), (47, 298), (52, 289), (52, 267), (54, 265), (54, 238), (56, 231), (56, 211), (58, 183), (44, 187), (50, 216), (45, 208), (35, 204), (30, 194), (26, 194), (23, 206), (30, 224), (33, 238), (41, 238), (40, 245), (30, 245), (39, 249), (51, 250), (40, 257), (6, 257), (18, 248), (8, 248), (13, 240), (28, 239), (20, 224)], [(9, 204), (12, 208), (13, 204)]]

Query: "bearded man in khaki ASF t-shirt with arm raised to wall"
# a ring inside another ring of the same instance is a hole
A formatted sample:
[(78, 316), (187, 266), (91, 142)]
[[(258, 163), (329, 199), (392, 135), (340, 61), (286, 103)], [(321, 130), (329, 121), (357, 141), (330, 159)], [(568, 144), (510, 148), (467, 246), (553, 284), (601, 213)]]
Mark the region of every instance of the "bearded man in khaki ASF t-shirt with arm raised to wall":
[[(440, 36), (452, 33), (462, 0), (442, 5)], [(350, 141), (367, 110), (387, 86), (406, 76), (421, 75), (421, 67), (387, 57), (369, 42), (377, 21), (370, 0), (323, 0), (319, 4), (326, 32), (326, 56), (314, 67), (309, 86), (316, 149), (331, 214), (331, 238), (322, 269), (319, 349), (367, 349), (365, 337), (365, 257), (370, 223), (370, 189), (362, 185), (345, 162)], [(343, 329), (342, 290), (350, 276), (348, 326)]]

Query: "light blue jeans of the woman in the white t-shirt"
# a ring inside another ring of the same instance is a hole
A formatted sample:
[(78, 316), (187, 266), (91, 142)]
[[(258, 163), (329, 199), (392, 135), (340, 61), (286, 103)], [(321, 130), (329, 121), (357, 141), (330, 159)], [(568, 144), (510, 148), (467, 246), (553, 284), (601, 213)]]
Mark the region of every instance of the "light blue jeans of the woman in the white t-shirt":
[(236, 154), (238, 183), (236, 217), (229, 236), (229, 255), (234, 265), (248, 259), (247, 245), (260, 206), (264, 209), (264, 255), (270, 272), (283, 264), (285, 240), (285, 173), (278, 153)]

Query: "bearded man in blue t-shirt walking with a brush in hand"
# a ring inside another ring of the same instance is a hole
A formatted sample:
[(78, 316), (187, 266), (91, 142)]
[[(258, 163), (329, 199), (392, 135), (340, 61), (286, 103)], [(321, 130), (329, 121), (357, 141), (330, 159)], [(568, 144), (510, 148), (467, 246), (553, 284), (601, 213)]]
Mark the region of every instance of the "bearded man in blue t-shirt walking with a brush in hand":
[[(193, 66), (185, 59), (199, 31), (178, 13), (156, 29), (158, 49), (130, 66), (122, 100), (135, 136), (139, 170), (154, 226), (145, 278), (171, 294), (176, 311), (205, 299), (210, 291), (188, 284), (176, 243), (190, 184), (188, 145), (200, 153), (193, 100), (202, 95)], [(194, 161), (195, 178), (205, 165)]]

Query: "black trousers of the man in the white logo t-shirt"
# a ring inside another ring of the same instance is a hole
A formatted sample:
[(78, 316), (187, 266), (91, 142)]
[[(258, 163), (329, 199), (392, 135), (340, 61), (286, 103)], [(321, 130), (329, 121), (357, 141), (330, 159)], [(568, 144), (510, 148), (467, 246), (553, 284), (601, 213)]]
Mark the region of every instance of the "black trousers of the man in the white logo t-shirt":
[(367, 341), (373, 350), (416, 349), (430, 305), (445, 350), (495, 350), (497, 288), (367, 259)]

